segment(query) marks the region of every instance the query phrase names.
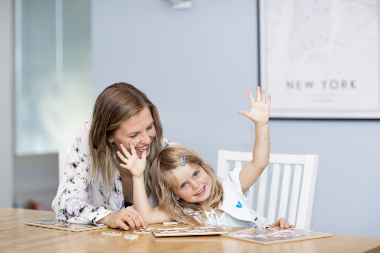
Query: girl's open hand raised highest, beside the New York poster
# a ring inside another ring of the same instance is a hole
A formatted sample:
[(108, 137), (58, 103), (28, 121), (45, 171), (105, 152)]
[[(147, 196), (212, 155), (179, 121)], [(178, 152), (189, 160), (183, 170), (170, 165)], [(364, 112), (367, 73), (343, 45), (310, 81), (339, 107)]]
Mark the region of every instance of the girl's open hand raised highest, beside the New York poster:
[[(261, 98), (262, 92), (262, 98)], [(271, 94), (268, 95), (268, 101), (266, 101), (265, 91), (257, 87), (257, 101), (255, 102), (252, 94), (248, 91), (249, 101), (251, 102), (251, 110), (240, 110), (239, 113), (247, 116), (255, 124), (267, 124), (269, 121), (269, 106), (271, 105)]]

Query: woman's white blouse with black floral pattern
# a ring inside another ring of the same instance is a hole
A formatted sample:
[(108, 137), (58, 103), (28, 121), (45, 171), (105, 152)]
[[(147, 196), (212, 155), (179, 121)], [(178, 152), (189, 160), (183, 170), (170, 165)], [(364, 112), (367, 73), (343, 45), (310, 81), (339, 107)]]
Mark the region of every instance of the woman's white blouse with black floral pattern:
[[(96, 222), (111, 212), (120, 212), (125, 208), (122, 179), (118, 170), (110, 190), (103, 188), (101, 173), (95, 183), (90, 185), (88, 182), (91, 172), (88, 139), (90, 127), (91, 122), (82, 126), (67, 157), (57, 195), (52, 203), (59, 221), (102, 225)], [(177, 144), (166, 138), (163, 138), (162, 143), (164, 147)], [(149, 200), (153, 198), (150, 196)]]

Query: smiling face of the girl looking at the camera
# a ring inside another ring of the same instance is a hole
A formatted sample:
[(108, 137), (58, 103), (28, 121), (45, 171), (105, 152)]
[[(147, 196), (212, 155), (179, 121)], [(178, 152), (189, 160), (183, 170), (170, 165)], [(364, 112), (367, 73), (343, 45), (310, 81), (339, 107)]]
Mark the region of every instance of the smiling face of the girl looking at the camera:
[(179, 165), (170, 173), (174, 177), (172, 188), (177, 199), (182, 198), (189, 203), (207, 206), (212, 181), (202, 167), (186, 163), (184, 166)]

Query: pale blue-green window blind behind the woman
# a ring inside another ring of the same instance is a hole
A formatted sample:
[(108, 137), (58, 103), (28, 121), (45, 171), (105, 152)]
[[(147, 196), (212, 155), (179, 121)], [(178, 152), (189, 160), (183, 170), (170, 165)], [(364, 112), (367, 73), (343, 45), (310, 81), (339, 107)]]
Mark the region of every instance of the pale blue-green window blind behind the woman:
[(90, 0), (15, 1), (15, 154), (72, 145), (92, 112)]

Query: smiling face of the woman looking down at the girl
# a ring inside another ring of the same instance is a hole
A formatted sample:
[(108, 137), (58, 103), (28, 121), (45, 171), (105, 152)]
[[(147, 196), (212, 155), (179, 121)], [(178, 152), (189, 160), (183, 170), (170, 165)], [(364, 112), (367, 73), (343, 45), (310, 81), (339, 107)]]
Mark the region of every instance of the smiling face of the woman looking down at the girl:
[(123, 144), (131, 154), (131, 148), (129, 146), (129, 142), (131, 141), (139, 158), (141, 158), (143, 150), (146, 150), (146, 156), (148, 156), (150, 153), (150, 143), (156, 136), (156, 129), (153, 122), (150, 110), (146, 107), (139, 114), (124, 121), (115, 134), (110, 137), (109, 141), (113, 143), (117, 151), (120, 151), (122, 154), (123, 151), (120, 148), (120, 144)]

